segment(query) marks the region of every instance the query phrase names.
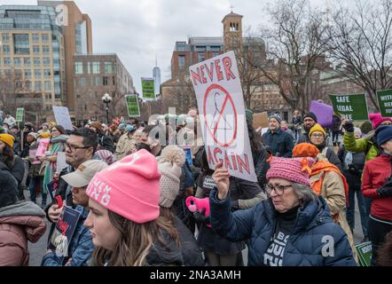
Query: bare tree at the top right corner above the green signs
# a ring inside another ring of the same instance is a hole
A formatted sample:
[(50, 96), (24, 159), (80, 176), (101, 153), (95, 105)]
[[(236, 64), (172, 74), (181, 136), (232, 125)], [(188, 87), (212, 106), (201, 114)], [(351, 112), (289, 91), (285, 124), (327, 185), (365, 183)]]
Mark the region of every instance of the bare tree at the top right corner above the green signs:
[(374, 106), (376, 91), (392, 88), (392, 0), (359, 1), (330, 18), (331, 59), (341, 76), (362, 87)]

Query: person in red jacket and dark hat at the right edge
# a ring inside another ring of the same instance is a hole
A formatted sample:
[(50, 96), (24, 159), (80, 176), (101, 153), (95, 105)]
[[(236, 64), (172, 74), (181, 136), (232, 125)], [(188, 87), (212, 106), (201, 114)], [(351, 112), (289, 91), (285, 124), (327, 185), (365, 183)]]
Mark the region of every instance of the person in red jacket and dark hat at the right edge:
[(372, 198), (368, 225), (372, 265), (376, 265), (378, 249), (392, 230), (392, 126), (380, 126), (375, 135), (380, 155), (365, 163), (362, 180), (362, 193)]

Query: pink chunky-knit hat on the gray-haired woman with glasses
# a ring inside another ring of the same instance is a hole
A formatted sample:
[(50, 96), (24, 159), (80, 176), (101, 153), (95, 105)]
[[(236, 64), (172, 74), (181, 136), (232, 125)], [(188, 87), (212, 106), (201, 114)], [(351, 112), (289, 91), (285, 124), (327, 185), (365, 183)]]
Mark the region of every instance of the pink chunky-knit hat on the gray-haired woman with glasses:
[(272, 157), (267, 179), (272, 177), (285, 178), (295, 183), (310, 186), (310, 168), (315, 161), (310, 157), (280, 158)]

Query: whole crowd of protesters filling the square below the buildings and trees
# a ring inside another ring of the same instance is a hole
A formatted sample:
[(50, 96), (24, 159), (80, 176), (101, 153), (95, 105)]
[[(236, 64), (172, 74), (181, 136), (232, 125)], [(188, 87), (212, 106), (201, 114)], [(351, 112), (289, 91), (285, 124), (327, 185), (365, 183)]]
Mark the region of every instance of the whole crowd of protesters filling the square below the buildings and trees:
[(28, 265), (27, 241), (49, 231), (50, 242), (70, 208), (79, 218), (66, 254), (48, 247), (43, 266), (355, 266), (356, 203), (372, 265), (390, 265), (392, 119), (369, 120), (368, 133), (337, 115), (325, 129), (316, 114), (295, 110), (292, 123), (270, 114), (262, 135), (247, 110), (251, 182), (222, 162), (210, 169), (196, 108), (74, 130), (19, 129), (6, 113), (0, 265)]

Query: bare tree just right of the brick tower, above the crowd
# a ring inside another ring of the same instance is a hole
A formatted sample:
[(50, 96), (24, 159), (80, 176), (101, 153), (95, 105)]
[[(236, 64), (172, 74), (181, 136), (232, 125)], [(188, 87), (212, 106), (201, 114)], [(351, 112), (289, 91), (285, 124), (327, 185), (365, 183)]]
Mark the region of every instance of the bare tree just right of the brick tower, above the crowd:
[(308, 110), (311, 99), (324, 96), (319, 75), (329, 69), (323, 13), (306, 0), (278, 0), (268, 9), (271, 28), (263, 28), (267, 60), (257, 67), (293, 108)]

